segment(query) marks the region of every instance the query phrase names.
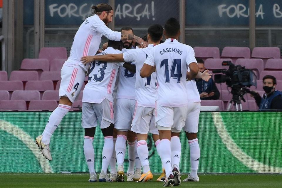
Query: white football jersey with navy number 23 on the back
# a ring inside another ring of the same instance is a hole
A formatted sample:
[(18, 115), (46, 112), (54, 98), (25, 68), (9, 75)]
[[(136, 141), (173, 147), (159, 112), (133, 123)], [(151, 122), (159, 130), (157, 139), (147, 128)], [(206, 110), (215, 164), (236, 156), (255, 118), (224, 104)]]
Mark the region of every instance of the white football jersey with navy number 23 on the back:
[[(108, 47), (105, 51), (98, 55), (121, 53)], [(85, 85), (82, 95), (82, 102), (100, 104), (104, 99), (113, 102), (113, 90), (115, 87), (115, 79), (117, 70), (122, 63), (107, 63), (103, 61), (91, 62), (88, 83)]]

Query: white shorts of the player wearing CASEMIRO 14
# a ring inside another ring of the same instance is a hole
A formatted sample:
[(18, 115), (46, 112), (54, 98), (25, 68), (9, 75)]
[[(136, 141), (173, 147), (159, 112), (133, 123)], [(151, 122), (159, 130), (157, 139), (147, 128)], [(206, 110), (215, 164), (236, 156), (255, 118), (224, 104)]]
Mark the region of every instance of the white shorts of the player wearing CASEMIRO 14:
[(187, 105), (182, 107), (161, 106), (155, 109), (156, 126), (159, 130), (180, 132), (187, 117)]

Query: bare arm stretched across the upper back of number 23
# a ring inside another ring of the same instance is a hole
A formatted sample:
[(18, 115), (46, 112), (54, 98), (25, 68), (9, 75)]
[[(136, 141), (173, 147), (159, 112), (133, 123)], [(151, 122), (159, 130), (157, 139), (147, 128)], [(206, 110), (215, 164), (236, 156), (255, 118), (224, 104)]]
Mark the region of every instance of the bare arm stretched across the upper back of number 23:
[(101, 56), (83, 56), (80, 61), (83, 64), (93, 61), (105, 61), (105, 62), (124, 62), (122, 53), (119, 54), (106, 54)]

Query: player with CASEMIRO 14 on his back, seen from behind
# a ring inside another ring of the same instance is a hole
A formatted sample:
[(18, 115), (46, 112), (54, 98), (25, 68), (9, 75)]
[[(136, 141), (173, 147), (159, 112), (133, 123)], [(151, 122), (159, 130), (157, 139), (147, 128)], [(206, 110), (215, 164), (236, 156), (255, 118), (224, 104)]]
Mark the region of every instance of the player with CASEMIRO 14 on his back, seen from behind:
[[(179, 185), (179, 156), (172, 157), (177, 148), (181, 152), (179, 132), (187, 117), (188, 102), (186, 86), (187, 68), (194, 78), (198, 73), (197, 61), (192, 47), (177, 41), (179, 22), (171, 18), (164, 26), (164, 43), (152, 48), (140, 75), (149, 77), (156, 69), (159, 86), (156, 100), (156, 126), (160, 132), (160, 157), (165, 169), (164, 187)], [(176, 138), (176, 139), (174, 139)]]

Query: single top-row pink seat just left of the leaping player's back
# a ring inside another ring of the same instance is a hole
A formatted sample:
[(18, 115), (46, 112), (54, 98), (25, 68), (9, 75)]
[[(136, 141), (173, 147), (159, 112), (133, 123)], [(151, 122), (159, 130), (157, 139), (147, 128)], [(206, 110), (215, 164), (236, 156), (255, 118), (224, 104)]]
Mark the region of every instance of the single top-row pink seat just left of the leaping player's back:
[(44, 47), (39, 52), (40, 59), (48, 59), (51, 62), (53, 59), (66, 59), (67, 49), (64, 47)]

